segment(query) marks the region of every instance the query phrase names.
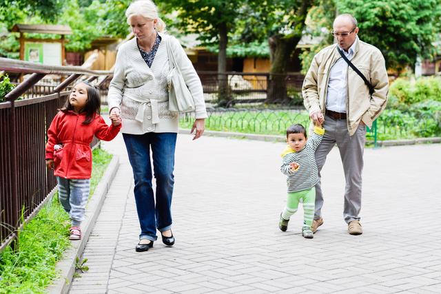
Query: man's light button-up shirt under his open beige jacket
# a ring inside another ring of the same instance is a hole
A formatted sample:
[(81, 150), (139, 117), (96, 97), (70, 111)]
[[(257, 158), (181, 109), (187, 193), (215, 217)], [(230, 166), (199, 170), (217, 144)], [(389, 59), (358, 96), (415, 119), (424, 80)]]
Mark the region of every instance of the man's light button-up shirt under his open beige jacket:
[[(353, 53), (355, 52), (356, 43), (358, 42), (358, 36), (356, 41), (353, 42), (348, 52), (345, 52), (342, 48), (340, 50), (343, 51), (347, 59), (351, 60), (353, 57)], [(339, 46), (340, 47), (340, 46)], [(329, 72), (329, 82), (328, 82), (328, 90), (326, 96), (326, 109), (329, 109), (333, 112), (343, 112), (346, 113), (346, 76), (347, 69), (349, 65), (340, 57), (336, 63), (331, 67)]]

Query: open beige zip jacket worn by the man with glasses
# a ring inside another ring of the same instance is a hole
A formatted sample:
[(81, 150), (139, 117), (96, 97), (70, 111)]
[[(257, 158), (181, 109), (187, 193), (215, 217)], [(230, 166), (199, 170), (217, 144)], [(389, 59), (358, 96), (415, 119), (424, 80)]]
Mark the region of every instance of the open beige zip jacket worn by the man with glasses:
[[(311, 63), (302, 86), (303, 102), (309, 114), (320, 110), (325, 113), (329, 71), (332, 65), (341, 58), (336, 44), (324, 48)], [(351, 69), (347, 71), (347, 129), (352, 136), (363, 121), (368, 127), (380, 115), (387, 103), (389, 80), (384, 65), (384, 57), (373, 45), (358, 40), (351, 59), (374, 88), (372, 96), (362, 78)]]

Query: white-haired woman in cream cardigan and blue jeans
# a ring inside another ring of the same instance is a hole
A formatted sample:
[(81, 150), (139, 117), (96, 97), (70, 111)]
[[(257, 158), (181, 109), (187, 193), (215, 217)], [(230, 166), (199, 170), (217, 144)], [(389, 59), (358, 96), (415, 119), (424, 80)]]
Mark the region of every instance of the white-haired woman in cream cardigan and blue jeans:
[[(118, 51), (109, 86), (110, 114), (121, 114), (121, 132), (134, 174), (134, 196), (141, 233), (136, 251), (147, 251), (161, 232), (166, 246), (174, 244), (172, 193), (178, 113), (169, 110), (167, 46), (174, 54), (195, 104), (193, 140), (204, 132), (207, 112), (201, 80), (178, 41), (165, 34), (165, 23), (150, 0), (132, 3), (125, 12), (135, 38)], [(176, 97), (179, 99), (179, 97)], [(152, 150), (152, 162), (150, 160)], [(152, 188), (152, 163), (156, 193)], [(156, 195), (156, 203), (155, 203)]]

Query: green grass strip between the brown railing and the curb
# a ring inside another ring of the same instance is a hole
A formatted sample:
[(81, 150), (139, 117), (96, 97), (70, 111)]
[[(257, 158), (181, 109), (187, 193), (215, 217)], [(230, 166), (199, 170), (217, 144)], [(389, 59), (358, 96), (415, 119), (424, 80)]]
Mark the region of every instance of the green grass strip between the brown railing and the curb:
[[(91, 194), (111, 158), (102, 149), (94, 149)], [(19, 233), (19, 251), (8, 247), (0, 254), (0, 293), (45, 293), (57, 277), (57, 262), (70, 246), (69, 227), (68, 213), (54, 196)]]

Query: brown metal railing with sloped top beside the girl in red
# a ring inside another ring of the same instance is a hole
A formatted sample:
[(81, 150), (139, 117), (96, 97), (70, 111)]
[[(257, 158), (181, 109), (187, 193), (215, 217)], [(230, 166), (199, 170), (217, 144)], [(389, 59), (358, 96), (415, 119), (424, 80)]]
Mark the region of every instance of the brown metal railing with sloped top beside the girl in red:
[[(82, 67), (48, 66), (0, 58), (0, 71), (31, 74), (0, 103), (0, 251), (17, 238), (17, 231), (52, 195), (57, 183), (53, 171), (45, 168), (45, 141), (48, 127), (69, 92), (63, 92), (81, 76), (89, 81), (112, 72)], [(29, 93), (47, 74), (68, 76), (46, 94), (16, 101)], [(105, 79), (104, 79), (105, 81)], [(98, 143), (99, 140), (94, 140)], [(17, 243), (14, 242), (17, 247)]]

